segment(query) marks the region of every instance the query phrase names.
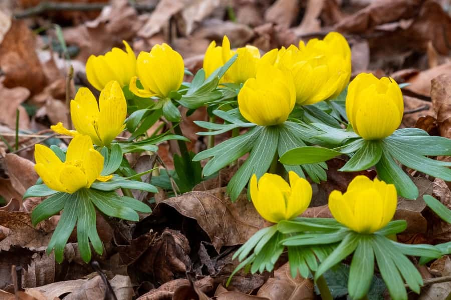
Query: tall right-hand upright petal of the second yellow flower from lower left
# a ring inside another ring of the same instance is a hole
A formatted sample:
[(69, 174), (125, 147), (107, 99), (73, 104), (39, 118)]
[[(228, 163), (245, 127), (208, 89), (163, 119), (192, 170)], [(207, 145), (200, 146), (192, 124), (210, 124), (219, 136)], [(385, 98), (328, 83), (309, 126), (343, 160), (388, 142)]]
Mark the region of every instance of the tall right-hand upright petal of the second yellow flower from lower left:
[(127, 102), (116, 81), (109, 82), (100, 93), (99, 107), (98, 132), (102, 145), (109, 145), (124, 129), (127, 116)]

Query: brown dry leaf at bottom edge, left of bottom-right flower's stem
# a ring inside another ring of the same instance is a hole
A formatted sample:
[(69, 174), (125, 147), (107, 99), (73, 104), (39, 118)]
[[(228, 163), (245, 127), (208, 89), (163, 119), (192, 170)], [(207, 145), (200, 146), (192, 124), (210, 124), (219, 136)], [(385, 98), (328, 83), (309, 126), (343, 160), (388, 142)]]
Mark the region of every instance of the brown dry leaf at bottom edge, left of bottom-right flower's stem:
[(288, 262), (274, 271), (274, 277), (269, 278), (260, 287), (257, 295), (270, 300), (313, 300), (315, 298), (313, 281), (299, 274), (296, 278), (292, 278)]

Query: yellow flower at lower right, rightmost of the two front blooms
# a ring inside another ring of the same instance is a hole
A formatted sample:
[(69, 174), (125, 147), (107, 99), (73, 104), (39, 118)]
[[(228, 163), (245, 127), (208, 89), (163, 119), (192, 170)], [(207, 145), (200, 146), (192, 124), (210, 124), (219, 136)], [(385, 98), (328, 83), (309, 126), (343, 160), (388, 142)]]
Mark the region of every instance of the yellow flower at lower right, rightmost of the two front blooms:
[(342, 194), (334, 190), (329, 195), (329, 209), (334, 218), (359, 233), (373, 233), (393, 218), (396, 210), (396, 189), (377, 178), (355, 177)]

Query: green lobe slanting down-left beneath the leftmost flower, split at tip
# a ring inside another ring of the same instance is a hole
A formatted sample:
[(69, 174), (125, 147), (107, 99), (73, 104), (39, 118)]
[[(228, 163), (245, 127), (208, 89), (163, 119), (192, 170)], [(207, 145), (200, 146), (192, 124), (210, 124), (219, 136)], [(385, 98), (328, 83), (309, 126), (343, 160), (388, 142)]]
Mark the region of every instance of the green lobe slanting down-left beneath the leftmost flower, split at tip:
[(80, 191), (68, 195), (61, 218), (47, 247), (47, 253), (55, 249), (55, 260), (60, 263), (63, 261), (64, 247), (77, 222)]

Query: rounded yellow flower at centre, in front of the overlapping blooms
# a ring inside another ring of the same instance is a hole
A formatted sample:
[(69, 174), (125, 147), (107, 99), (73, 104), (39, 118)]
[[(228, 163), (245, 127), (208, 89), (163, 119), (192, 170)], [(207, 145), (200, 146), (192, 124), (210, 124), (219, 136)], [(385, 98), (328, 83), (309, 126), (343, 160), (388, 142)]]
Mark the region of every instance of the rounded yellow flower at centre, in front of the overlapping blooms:
[(248, 79), (238, 94), (240, 113), (246, 120), (262, 126), (284, 123), (295, 102), (290, 72), (271, 65), (259, 67), (256, 78)]

